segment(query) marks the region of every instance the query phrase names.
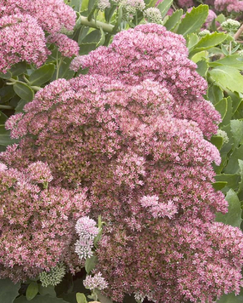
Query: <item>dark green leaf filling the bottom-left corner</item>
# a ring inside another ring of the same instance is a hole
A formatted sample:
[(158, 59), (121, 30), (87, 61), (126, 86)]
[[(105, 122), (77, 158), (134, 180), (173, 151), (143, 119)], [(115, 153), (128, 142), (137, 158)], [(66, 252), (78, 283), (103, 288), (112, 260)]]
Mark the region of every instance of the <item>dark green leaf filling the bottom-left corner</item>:
[(0, 302), (12, 303), (19, 295), (20, 283), (14, 284), (10, 279), (0, 280)]

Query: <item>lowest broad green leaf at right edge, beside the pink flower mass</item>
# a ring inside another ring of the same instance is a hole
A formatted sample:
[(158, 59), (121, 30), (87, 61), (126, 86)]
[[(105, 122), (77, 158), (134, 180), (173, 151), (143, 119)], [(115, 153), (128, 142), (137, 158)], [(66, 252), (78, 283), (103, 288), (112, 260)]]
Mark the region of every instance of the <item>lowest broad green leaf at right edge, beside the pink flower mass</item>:
[(240, 227), (241, 225), (241, 203), (239, 201), (238, 196), (230, 189), (227, 192), (225, 197), (226, 201), (228, 201), (228, 212), (226, 214), (222, 214), (221, 212), (216, 213), (217, 222), (223, 222), (224, 224), (228, 224), (231, 226)]

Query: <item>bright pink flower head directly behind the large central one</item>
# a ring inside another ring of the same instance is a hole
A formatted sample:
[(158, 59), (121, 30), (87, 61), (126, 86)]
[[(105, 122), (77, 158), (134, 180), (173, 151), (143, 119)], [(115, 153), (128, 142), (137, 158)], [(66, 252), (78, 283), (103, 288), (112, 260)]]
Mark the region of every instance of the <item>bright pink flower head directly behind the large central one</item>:
[(187, 56), (181, 35), (149, 23), (118, 33), (109, 47), (101, 46), (89, 55), (74, 58), (70, 68), (77, 71), (88, 67), (90, 74), (107, 75), (130, 85), (147, 78), (159, 81), (176, 100), (174, 116), (196, 121), (210, 137), (217, 131), (214, 121), (219, 122), (221, 117), (203, 98), (207, 82)]

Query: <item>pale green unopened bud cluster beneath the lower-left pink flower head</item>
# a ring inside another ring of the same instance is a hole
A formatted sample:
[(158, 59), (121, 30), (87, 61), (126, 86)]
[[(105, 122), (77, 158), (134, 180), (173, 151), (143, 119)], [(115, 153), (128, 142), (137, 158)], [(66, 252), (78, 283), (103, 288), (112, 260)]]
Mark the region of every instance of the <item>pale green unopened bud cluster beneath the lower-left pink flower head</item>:
[(54, 267), (51, 267), (49, 271), (42, 271), (39, 274), (39, 279), (44, 287), (49, 285), (56, 286), (62, 281), (62, 278), (66, 274), (66, 267), (61, 262)]

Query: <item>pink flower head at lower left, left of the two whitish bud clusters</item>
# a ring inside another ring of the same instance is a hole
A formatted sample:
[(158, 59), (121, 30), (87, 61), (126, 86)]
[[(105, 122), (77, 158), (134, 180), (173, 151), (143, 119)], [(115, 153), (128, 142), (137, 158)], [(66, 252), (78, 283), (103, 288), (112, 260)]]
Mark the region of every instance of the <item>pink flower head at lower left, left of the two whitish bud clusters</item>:
[(43, 189), (52, 176), (40, 161), (22, 172), (0, 164), (0, 277), (24, 281), (59, 262), (79, 270), (74, 226), (90, 208), (85, 189)]

